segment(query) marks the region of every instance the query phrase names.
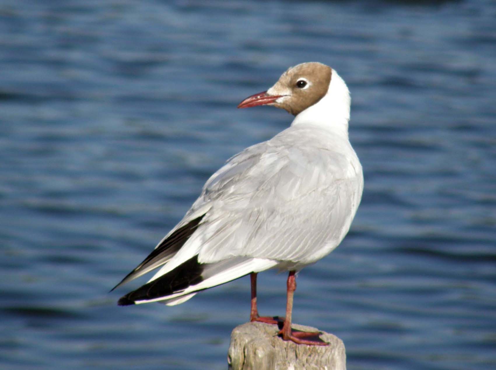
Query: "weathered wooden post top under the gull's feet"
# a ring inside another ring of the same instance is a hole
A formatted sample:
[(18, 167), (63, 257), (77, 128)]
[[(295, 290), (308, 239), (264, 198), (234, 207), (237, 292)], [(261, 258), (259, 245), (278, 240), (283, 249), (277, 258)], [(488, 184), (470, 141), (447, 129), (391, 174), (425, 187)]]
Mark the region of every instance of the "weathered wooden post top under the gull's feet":
[[(310, 326), (292, 325), (293, 329), (317, 331)], [(322, 332), (320, 339), (328, 346), (307, 346), (283, 341), (277, 325), (247, 322), (231, 333), (228, 364), (231, 370), (346, 370), (343, 341)]]

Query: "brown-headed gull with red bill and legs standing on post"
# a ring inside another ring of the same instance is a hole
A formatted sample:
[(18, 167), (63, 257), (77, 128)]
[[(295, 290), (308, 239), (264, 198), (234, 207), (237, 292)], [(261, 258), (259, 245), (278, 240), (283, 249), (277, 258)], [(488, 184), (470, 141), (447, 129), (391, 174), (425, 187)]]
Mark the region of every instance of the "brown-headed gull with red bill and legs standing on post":
[[(362, 166), (348, 139), (350, 93), (334, 69), (307, 62), (238, 108), (252, 106), (275, 106), (295, 118), (227, 160), (184, 218), (112, 290), (160, 267), (118, 304), (173, 306), (249, 274), (250, 321), (282, 324), (286, 341), (327, 345), (320, 332), (291, 329), (293, 295), (296, 273), (341, 243), (362, 198)], [(270, 268), (289, 271), (285, 317), (258, 315), (257, 273)]]

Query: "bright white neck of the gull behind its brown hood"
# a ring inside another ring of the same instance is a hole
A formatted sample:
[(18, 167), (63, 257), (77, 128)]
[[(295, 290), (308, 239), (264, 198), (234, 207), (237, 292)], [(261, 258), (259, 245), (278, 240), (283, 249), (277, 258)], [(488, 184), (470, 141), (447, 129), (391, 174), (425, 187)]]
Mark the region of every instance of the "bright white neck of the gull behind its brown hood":
[(311, 124), (325, 127), (348, 137), (350, 120), (350, 92), (345, 82), (333, 69), (327, 94), (313, 106), (298, 114), (291, 126)]

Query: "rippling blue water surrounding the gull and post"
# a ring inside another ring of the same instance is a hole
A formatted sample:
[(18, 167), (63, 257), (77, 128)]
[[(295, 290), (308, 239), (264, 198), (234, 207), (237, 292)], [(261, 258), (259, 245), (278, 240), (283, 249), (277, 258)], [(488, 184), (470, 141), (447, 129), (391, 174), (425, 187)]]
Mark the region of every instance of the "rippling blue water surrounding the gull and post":
[[(321, 61), (365, 171), (294, 321), (348, 369), (496, 369), (496, 3), (0, 1), (0, 367), (225, 369), (249, 279), (176, 307), (108, 293), (231, 155), (291, 121), (236, 105)], [(285, 274), (259, 276), (282, 315)]]

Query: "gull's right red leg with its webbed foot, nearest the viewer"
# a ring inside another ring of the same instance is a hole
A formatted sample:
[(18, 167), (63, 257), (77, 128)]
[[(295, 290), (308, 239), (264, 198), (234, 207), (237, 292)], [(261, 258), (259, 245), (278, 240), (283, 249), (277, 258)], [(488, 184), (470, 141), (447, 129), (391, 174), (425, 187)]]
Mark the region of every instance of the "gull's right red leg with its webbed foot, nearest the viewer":
[[(305, 332), (305, 331), (293, 331), (291, 330), (291, 315), (293, 313), (293, 295), (296, 290), (296, 271), (289, 271), (288, 275), (288, 292), (286, 301), (286, 318), (284, 320), (284, 326), (279, 334), (282, 335), (283, 340), (291, 340), (297, 344), (308, 344), (310, 346), (327, 346), (329, 343), (322, 341), (318, 336), (320, 332)], [(310, 339), (301, 339), (310, 338)]]

